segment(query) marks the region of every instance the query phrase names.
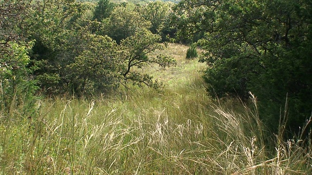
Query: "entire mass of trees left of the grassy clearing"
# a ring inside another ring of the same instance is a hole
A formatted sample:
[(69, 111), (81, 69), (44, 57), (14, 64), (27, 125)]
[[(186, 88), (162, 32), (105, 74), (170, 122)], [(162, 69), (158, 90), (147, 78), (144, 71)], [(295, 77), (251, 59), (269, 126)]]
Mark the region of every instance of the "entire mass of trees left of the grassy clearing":
[(4, 0), (0, 73), (2, 82), (10, 81), (3, 89), (17, 86), (18, 80), (30, 83), (30, 77), (49, 95), (108, 92), (128, 83), (156, 88), (153, 77), (135, 67), (175, 62), (153, 55), (161, 48), (160, 35), (148, 30), (150, 21), (136, 9), (108, 0)]

